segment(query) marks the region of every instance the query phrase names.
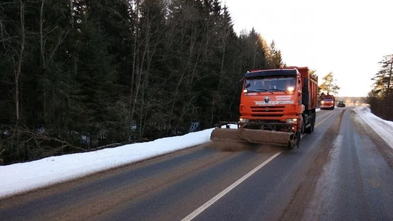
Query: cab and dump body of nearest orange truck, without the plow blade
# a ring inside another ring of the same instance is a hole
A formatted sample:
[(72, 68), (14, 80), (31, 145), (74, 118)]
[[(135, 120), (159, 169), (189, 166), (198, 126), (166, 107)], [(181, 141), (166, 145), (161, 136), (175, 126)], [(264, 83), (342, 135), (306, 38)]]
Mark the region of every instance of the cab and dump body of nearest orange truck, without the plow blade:
[(239, 123), (278, 123), (285, 132), (312, 130), (317, 80), (310, 77), (307, 67), (247, 72), (240, 98)]

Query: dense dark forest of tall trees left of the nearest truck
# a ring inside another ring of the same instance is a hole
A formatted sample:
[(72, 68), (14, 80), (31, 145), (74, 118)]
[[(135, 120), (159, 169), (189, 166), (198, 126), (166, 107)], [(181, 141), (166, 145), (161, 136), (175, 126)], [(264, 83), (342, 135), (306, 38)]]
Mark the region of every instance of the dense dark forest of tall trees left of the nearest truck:
[(5, 0), (0, 48), (0, 165), (237, 120), (243, 74), (282, 63), (220, 0)]

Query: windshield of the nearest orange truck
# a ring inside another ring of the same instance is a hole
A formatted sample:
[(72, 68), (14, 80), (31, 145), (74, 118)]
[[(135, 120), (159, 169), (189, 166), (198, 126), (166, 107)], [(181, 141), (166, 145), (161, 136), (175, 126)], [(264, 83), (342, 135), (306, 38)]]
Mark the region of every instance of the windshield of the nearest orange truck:
[(287, 91), (288, 87), (296, 88), (296, 78), (287, 76), (269, 76), (246, 79), (244, 89), (249, 91)]

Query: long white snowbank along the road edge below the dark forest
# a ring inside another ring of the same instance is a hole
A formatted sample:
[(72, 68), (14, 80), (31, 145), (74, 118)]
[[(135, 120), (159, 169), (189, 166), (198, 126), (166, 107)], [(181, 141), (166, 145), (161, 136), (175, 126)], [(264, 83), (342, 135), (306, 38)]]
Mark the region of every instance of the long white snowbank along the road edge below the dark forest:
[[(237, 125), (230, 126), (237, 128)], [(210, 140), (212, 131), (213, 128), (94, 152), (0, 166), (0, 198), (202, 144)]]

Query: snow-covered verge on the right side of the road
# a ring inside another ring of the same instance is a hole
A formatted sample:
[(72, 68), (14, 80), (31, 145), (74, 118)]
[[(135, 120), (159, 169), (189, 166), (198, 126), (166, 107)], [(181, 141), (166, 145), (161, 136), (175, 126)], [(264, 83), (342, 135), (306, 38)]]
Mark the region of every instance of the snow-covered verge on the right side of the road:
[(355, 109), (355, 112), (360, 118), (362, 118), (365, 123), (371, 127), (375, 133), (377, 133), (381, 138), (385, 140), (393, 148), (393, 122), (388, 120), (383, 120), (373, 113), (367, 106), (362, 106)]

